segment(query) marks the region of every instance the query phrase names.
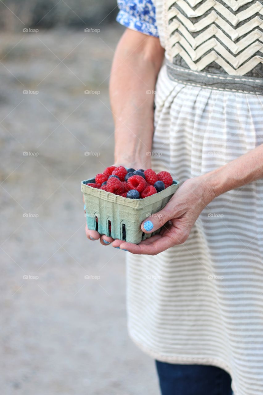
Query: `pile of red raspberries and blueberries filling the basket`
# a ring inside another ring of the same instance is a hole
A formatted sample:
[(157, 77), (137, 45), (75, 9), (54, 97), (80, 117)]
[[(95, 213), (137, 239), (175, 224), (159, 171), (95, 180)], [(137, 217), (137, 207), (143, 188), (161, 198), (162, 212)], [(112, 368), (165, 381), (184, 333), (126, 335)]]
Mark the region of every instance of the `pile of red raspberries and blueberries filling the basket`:
[(143, 199), (161, 192), (172, 183), (173, 179), (168, 171), (156, 174), (152, 169), (135, 170), (110, 166), (103, 173), (97, 174), (94, 182), (87, 185), (124, 198)]

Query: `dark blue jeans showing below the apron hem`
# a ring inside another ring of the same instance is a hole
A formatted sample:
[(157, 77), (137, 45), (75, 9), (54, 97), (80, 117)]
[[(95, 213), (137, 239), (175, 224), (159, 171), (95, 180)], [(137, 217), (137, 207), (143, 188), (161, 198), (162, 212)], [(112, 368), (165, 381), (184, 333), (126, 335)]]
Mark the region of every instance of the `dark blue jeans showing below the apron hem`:
[(175, 365), (156, 361), (162, 395), (232, 395), (231, 377), (206, 365)]

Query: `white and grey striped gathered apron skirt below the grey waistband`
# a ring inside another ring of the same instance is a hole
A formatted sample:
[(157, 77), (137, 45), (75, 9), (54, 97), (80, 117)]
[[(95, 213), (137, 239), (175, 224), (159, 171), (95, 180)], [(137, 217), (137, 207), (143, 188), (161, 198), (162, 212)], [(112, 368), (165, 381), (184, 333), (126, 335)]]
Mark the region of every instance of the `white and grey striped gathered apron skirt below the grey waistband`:
[[(152, 168), (185, 181), (263, 143), (263, 95), (157, 83)], [(131, 338), (148, 355), (215, 365), (263, 393), (263, 180), (214, 199), (186, 243), (128, 254)]]

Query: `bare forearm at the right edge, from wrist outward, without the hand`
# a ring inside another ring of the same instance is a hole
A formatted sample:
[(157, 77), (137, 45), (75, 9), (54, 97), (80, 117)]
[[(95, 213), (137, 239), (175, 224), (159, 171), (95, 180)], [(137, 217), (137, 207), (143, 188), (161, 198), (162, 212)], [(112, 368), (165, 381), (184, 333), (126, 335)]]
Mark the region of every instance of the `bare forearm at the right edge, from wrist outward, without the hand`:
[(214, 197), (263, 178), (263, 145), (203, 176)]

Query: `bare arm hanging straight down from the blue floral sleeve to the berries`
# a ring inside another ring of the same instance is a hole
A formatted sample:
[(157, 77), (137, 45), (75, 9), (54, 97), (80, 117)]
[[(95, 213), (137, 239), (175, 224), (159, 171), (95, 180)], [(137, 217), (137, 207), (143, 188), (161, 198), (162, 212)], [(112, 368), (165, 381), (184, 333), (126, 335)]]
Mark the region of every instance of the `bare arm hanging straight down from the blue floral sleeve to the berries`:
[(110, 79), (115, 162), (119, 164), (149, 163), (154, 88), (162, 60), (163, 48), (158, 38), (130, 29), (124, 32), (116, 48)]

